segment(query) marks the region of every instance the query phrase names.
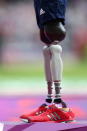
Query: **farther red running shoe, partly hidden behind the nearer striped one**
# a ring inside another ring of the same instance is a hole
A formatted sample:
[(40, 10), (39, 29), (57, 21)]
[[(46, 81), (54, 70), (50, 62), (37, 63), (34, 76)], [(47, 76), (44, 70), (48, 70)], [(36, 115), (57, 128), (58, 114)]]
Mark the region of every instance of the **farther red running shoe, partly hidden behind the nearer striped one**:
[(28, 122), (28, 118), (30, 116), (37, 116), (42, 114), (43, 112), (45, 112), (47, 110), (48, 106), (46, 104), (42, 104), (39, 108), (35, 109), (34, 111), (32, 111), (29, 114), (24, 114), (22, 116), (20, 116), (20, 119), (24, 122)]

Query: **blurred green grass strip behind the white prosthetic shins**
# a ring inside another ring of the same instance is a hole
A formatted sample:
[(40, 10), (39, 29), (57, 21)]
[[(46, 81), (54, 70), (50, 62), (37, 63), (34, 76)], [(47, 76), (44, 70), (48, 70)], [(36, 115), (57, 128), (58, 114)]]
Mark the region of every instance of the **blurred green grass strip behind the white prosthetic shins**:
[[(44, 66), (43, 64), (27, 64), (15, 66), (1, 66), (0, 79), (16, 79), (16, 78), (38, 78), (43, 79)], [(87, 62), (64, 64), (63, 77), (66, 79), (86, 79), (87, 80)]]

